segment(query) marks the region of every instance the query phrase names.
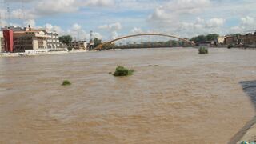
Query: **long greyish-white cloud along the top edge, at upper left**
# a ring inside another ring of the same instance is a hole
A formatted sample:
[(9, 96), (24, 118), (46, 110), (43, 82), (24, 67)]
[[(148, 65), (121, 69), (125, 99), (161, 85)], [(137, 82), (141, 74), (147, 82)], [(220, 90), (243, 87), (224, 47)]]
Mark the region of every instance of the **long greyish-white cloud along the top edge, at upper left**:
[[(8, 0), (8, 2), (23, 2), (26, 9), (14, 8), (11, 11), (12, 18), (40, 18), (42, 16), (50, 16), (54, 14), (73, 13), (85, 7), (108, 7), (114, 6), (114, 0)], [(20, 7), (20, 6), (18, 6)], [(24, 15), (26, 16), (24, 18)]]

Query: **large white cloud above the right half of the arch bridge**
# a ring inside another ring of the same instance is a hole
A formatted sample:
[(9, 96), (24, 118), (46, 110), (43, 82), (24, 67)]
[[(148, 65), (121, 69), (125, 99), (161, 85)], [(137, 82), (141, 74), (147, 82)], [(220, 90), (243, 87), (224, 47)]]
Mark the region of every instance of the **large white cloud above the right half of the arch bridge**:
[(224, 18), (214, 17), (196, 18), (211, 10), (214, 1), (210, 0), (174, 0), (158, 6), (149, 15), (148, 22), (162, 33), (191, 37), (197, 34), (223, 33)]

